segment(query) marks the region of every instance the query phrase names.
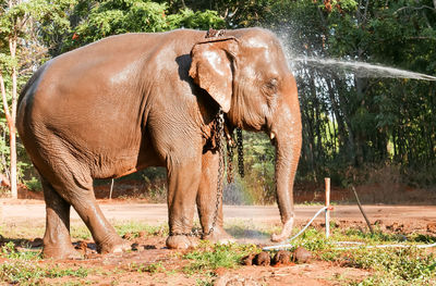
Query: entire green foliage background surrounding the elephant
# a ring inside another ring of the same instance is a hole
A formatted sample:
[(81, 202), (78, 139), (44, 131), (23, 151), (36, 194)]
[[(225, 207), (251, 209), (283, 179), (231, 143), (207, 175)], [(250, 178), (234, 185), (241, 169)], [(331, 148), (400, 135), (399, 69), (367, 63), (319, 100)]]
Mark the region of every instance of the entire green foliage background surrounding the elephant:
[[(48, 59), (109, 35), (180, 27), (270, 28), (281, 38), (298, 79), (303, 121), (299, 183), (320, 184), (330, 176), (334, 184), (347, 187), (365, 184), (372, 169), (387, 167), (398, 172), (401, 184), (428, 189), (436, 185), (435, 82), (364, 77), (301, 60), (363, 61), (436, 75), (432, 0), (29, 0), (13, 11), (5, 2), (1, 7), (2, 65), (19, 64), (11, 63), (7, 53), (10, 15), (29, 15), (32, 23), (20, 35), (21, 85)], [(31, 45), (45, 47), (44, 57), (36, 58)], [(7, 173), (3, 117), (0, 169)], [(271, 203), (274, 147), (264, 135), (244, 133), (244, 137), (246, 177), (228, 188), (242, 190), (238, 202)], [(36, 186), (22, 146), (19, 151), (22, 179)], [(141, 175), (147, 176), (147, 171)]]

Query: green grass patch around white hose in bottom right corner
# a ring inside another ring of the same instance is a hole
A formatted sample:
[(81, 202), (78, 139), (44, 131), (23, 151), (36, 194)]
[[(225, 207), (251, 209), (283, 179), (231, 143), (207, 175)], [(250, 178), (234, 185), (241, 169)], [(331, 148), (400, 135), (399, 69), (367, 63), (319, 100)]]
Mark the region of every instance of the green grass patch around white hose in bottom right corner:
[[(436, 257), (414, 247), (416, 243), (434, 243), (435, 237), (399, 235), (376, 231), (332, 228), (327, 240), (324, 232), (308, 228), (292, 244), (303, 246), (322, 260), (335, 261), (343, 266), (373, 270), (375, 274), (351, 285), (436, 285)], [(408, 248), (365, 248), (338, 250), (334, 241), (359, 241), (364, 245), (405, 244)], [(433, 283), (433, 284), (432, 284)]]

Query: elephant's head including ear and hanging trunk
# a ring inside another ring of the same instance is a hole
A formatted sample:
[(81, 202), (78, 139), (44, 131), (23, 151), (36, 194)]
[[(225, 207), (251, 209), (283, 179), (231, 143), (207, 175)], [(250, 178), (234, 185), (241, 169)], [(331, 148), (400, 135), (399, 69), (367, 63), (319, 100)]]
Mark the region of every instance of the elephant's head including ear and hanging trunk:
[(191, 52), (190, 76), (221, 107), (233, 126), (266, 132), (276, 145), (277, 199), (287, 238), (293, 224), (293, 182), (301, 149), (296, 84), (279, 40), (262, 28), (227, 32)]

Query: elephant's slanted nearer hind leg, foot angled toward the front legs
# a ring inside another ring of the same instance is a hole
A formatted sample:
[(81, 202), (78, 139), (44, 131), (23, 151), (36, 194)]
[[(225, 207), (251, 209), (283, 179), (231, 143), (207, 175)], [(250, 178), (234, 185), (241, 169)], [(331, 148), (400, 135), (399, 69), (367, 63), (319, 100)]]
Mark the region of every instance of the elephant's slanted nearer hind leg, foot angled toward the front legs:
[[(69, 237), (68, 220), (64, 219), (68, 217), (65, 206), (72, 206), (89, 228), (99, 252), (121, 252), (122, 250), (130, 249), (130, 245), (121, 239), (98, 207), (88, 166), (70, 154), (68, 149), (63, 148), (61, 144), (56, 145), (56, 147), (58, 147), (57, 150), (59, 150), (59, 153), (52, 154), (48, 161), (49, 164), (39, 167), (39, 170), (43, 176), (50, 177), (50, 183), (53, 187), (50, 188), (51, 191), (49, 195), (51, 196), (46, 199), (47, 206), (50, 206), (47, 212), (47, 220), (58, 220), (50, 219), (53, 216), (51, 209), (55, 208), (59, 221), (65, 221), (65, 226), (61, 227), (60, 234), (57, 237), (59, 239), (61, 239), (60, 237)], [(60, 225), (60, 223), (56, 225)], [(59, 232), (50, 225), (48, 225), (47, 229), (48, 235)], [(49, 240), (48, 236), (47, 241), (51, 246)]]

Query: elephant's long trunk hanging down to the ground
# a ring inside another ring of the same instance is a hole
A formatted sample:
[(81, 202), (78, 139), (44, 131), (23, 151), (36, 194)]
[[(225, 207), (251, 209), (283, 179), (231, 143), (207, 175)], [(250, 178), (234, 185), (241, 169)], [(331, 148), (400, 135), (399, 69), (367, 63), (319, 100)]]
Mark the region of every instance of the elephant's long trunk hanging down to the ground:
[(280, 211), (283, 229), (279, 235), (272, 235), (272, 241), (288, 238), (292, 233), (294, 221), (293, 183), (300, 159), (302, 142), (300, 105), (294, 95), (290, 97), (289, 104), (283, 104), (278, 112), (276, 126), (276, 188), (277, 203)]

